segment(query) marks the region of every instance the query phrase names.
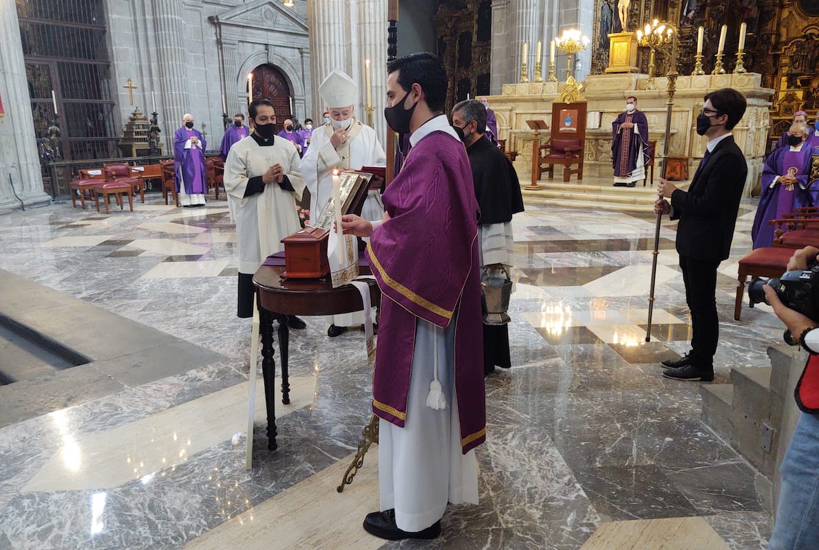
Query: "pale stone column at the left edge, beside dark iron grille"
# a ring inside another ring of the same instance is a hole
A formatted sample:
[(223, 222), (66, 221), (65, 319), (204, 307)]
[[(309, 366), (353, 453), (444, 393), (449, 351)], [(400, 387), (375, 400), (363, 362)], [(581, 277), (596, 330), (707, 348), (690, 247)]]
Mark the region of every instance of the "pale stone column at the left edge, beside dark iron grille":
[[(23, 204), (43, 205), (51, 197), (43, 192), (31, 97), (25, 77), (23, 45), (15, 2), (0, 2), (0, 97), (6, 116), (0, 119), (0, 212)], [(9, 176), (14, 192), (9, 185)], [(15, 196), (16, 193), (16, 196)]]

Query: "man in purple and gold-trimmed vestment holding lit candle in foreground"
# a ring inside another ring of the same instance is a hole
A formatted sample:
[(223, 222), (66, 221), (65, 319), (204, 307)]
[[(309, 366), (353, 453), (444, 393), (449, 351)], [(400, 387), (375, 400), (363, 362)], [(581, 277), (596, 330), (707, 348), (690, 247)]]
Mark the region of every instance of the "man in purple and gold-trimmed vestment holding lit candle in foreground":
[(434, 539), (447, 503), (477, 503), (473, 449), (486, 440), (478, 210), (464, 144), (443, 114), (441, 61), (411, 54), (387, 73), (385, 118), (412, 133), (413, 147), (384, 192), (384, 220), (343, 218), (346, 232), (371, 237), (382, 291), (373, 376), (382, 511), (364, 529)]

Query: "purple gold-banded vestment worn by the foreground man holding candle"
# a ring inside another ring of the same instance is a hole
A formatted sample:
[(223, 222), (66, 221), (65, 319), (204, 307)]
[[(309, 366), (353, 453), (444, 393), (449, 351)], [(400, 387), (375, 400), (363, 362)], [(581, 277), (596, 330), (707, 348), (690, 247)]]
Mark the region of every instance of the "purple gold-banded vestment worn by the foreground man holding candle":
[(383, 296), (373, 412), (404, 427), (416, 319), (455, 322), (455, 398), (467, 453), (486, 440), (486, 401), (477, 201), (464, 144), (430, 133), (382, 198), (390, 219), (373, 231), (366, 253)]

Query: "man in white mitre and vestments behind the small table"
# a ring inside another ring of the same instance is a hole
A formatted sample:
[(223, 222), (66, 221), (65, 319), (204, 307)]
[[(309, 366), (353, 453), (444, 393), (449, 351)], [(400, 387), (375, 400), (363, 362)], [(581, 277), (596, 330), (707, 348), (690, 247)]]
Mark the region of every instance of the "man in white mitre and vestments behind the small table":
[[(310, 219), (315, 221), (333, 195), (333, 169), (360, 169), (362, 166), (384, 166), (387, 155), (375, 130), (355, 118), (358, 86), (346, 74), (333, 70), (319, 86), (319, 96), (328, 107), (330, 121), (315, 128), (310, 148), (301, 160), (307, 188), (310, 189)], [(384, 215), (384, 205), (377, 189), (372, 189), (364, 203), (361, 217), (374, 222)], [(328, 336), (338, 336), (347, 327), (364, 322), (361, 312), (334, 315)]]

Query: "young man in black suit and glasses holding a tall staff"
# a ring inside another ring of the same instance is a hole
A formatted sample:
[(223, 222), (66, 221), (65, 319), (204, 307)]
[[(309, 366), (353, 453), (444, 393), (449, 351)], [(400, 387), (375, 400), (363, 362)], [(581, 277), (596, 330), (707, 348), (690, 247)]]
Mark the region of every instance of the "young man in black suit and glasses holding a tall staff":
[[(686, 303), (691, 312), (691, 350), (680, 359), (663, 361), (663, 376), (685, 381), (713, 381), (717, 352), (717, 267), (726, 259), (734, 237), (736, 214), (748, 165), (734, 142), (731, 128), (740, 122), (746, 101), (733, 88), (705, 96), (697, 117), (697, 133), (708, 138), (703, 160), (688, 191), (660, 179), (656, 214), (679, 219), (676, 251), (680, 255)], [(669, 197), (671, 203), (663, 197)]]

